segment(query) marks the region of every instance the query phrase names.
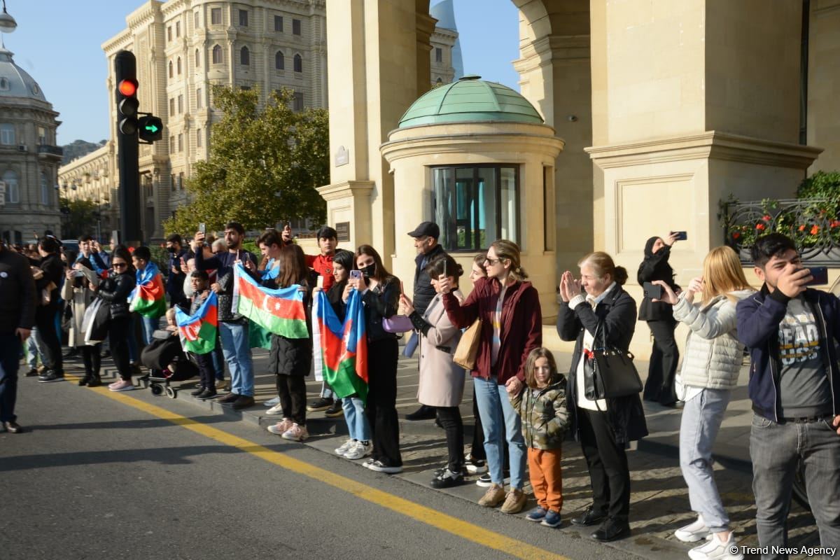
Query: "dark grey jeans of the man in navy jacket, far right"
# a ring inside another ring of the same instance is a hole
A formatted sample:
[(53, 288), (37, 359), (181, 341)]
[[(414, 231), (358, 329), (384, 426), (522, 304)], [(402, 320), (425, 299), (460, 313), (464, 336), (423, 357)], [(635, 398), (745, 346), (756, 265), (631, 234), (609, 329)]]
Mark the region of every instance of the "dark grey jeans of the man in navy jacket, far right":
[[(753, 415), (749, 455), (753, 459), (759, 545), (787, 545), (790, 495), (801, 458), (805, 461), (805, 484), (820, 530), (820, 544), (837, 547), (840, 544), (840, 436), (831, 420), (777, 424)], [(786, 556), (765, 554), (762, 558)]]

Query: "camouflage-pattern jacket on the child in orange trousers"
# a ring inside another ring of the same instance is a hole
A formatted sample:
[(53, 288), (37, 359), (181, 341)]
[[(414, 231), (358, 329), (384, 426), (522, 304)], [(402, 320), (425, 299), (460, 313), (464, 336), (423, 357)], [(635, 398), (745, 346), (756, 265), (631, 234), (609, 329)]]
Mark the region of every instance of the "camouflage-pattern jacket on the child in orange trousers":
[(566, 408), (566, 379), (545, 389), (531, 389), (527, 385), (519, 395), (509, 395), (511, 404), (522, 418), (522, 437), (525, 445), (534, 449), (559, 449), (569, 427)]

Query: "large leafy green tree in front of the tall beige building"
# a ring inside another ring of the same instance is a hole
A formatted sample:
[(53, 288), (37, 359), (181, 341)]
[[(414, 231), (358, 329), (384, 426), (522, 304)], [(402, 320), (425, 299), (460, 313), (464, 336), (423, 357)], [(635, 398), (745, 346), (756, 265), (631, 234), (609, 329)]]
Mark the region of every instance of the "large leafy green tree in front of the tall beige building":
[(164, 222), (166, 233), (192, 233), (225, 222), (245, 229), (273, 226), (281, 219), (323, 223), (326, 203), (316, 187), (329, 182), (328, 114), (291, 110), (294, 93), (274, 92), (260, 107), (254, 90), (213, 86), (222, 118), (213, 124), (210, 154), (186, 181), (191, 202)]

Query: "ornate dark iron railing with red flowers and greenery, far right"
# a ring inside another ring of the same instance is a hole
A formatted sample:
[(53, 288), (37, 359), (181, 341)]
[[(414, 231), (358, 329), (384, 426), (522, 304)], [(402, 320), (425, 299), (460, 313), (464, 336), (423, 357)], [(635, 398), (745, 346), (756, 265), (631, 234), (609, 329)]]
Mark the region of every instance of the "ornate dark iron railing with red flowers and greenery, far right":
[(796, 242), (809, 264), (840, 266), (840, 207), (837, 201), (789, 198), (728, 201), (721, 204), (726, 243), (752, 264), (749, 249), (767, 233), (783, 233)]

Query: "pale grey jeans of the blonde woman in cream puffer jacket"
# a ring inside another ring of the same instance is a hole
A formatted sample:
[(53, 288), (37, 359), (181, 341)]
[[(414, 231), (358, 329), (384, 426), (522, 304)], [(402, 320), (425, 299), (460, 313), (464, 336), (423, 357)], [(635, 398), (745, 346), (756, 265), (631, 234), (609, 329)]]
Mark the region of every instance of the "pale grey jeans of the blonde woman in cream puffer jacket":
[(688, 484), (691, 510), (703, 516), (713, 533), (729, 530), (729, 517), (715, 484), (711, 447), (731, 396), (730, 390), (704, 389), (685, 402), (680, 424), (680, 468)]

